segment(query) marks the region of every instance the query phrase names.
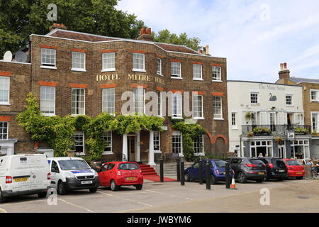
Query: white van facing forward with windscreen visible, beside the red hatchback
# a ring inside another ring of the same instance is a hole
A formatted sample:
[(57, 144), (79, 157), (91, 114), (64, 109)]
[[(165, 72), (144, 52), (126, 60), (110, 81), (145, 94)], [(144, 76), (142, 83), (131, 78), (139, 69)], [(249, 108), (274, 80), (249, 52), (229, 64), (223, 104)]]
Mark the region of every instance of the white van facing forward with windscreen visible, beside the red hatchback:
[(49, 157), (51, 187), (57, 194), (67, 194), (71, 190), (89, 189), (97, 191), (100, 181), (98, 173), (81, 157)]

